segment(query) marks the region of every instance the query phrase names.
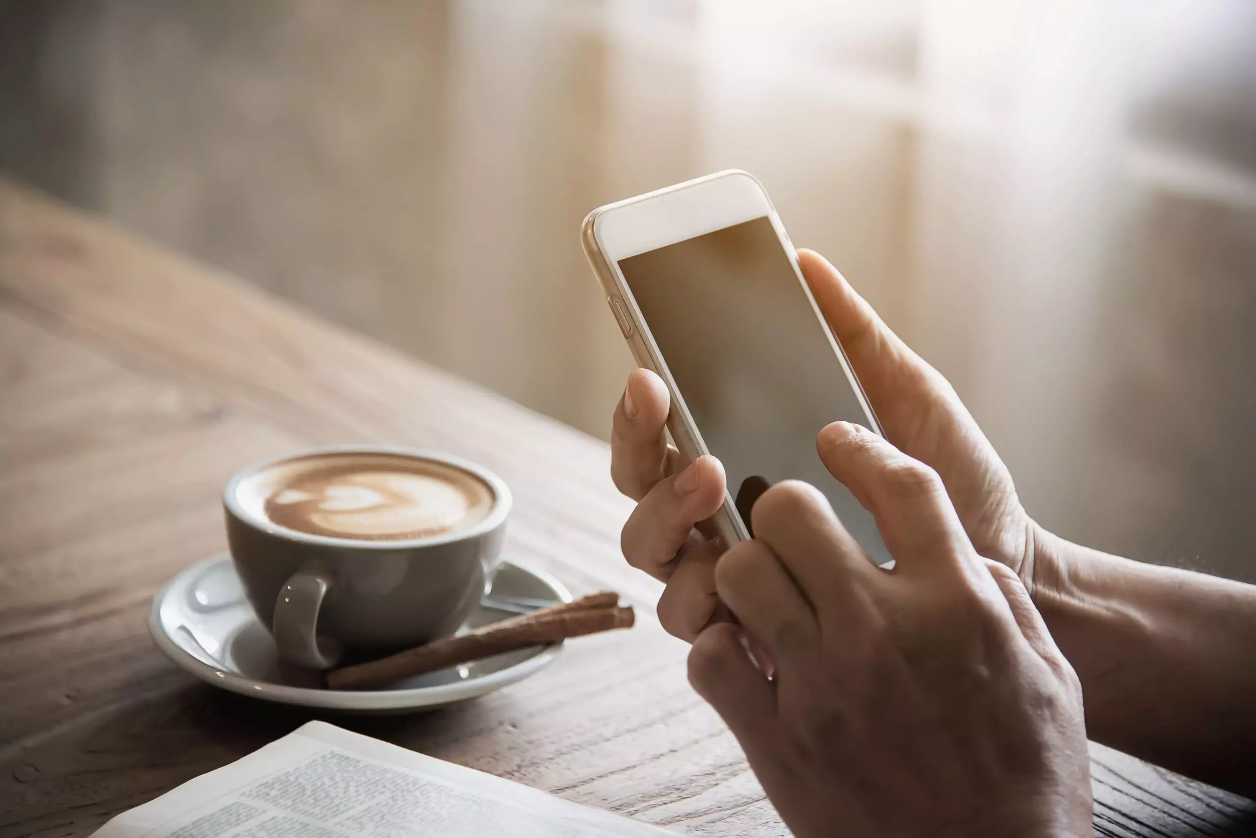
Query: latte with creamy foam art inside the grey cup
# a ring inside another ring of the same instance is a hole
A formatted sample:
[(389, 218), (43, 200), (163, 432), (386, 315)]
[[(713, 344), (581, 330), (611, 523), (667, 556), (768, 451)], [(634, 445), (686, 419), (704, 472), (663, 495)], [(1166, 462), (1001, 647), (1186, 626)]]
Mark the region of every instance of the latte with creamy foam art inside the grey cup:
[(495, 506), (482, 479), (388, 453), (325, 453), (274, 463), (236, 487), (249, 513), (313, 536), (412, 541), (463, 532)]

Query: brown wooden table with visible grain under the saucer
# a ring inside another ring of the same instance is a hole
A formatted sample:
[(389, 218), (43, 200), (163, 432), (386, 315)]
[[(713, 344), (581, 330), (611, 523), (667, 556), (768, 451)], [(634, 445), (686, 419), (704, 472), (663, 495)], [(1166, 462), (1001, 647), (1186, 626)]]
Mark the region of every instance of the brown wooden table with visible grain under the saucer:
[[(484, 463), (515, 493), (510, 556), (653, 613), (657, 583), (619, 556), (629, 503), (603, 443), (0, 181), (0, 834), (87, 834), (315, 715), (193, 680), (146, 615), (224, 549), (231, 472), (342, 442)], [(688, 687), (686, 649), (647, 616), (462, 706), (327, 718), (642, 820), (786, 834)], [(1242, 798), (1093, 759), (1102, 834), (1256, 824)]]

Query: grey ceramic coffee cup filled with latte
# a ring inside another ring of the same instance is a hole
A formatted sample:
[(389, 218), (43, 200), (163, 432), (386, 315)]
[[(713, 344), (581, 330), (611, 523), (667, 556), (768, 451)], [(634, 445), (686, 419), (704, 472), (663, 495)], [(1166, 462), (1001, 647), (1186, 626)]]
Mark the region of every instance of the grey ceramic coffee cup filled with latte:
[(222, 506), (280, 659), (330, 669), (453, 634), (500, 562), (511, 497), (456, 457), (347, 445), (249, 465)]

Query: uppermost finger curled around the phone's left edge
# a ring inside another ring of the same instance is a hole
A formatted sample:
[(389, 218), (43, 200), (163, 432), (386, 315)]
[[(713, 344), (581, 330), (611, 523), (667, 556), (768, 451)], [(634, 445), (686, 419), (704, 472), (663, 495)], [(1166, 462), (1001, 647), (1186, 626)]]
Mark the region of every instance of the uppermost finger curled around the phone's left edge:
[(669, 408), (663, 379), (651, 370), (633, 370), (610, 425), (610, 479), (633, 501), (671, 470), (673, 454), (663, 437)]

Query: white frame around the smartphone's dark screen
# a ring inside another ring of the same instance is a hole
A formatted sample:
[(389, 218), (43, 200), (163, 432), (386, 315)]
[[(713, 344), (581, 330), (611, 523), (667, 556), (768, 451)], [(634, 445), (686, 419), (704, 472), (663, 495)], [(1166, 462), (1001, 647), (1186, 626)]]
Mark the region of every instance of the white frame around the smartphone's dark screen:
[[(607, 294), (607, 301), (612, 309), (618, 305), (628, 320), (629, 329), (624, 329), (623, 324), (619, 327), (633, 358), (639, 365), (658, 374), (667, 385), (672, 399), (668, 430), (686, 462), (710, 454), (711, 450), (702, 439), (685, 396), (676, 385), (667, 361), (619, 270), (619, 260), (762, 217), (767, 217), (772, 230), (776, 231), (776, 238), (794, 267), (795, 278), (806, 295), (816, 322), (828, 336), (833, 354), (859, 400), (868, 427), (878, 434), (882, 433), (877, 414), (850, 366), (845, 350), (825, 321), (811, 289), (803, 277), (798, 265), (798, 251), (785, 232), (767, 191), (749, 172), (727, 169), (598, 207), (584, 220), (582, 230), (585, 256)], [(737, 513), (731, 487), (725, 488), (723, 504), (712, 518), (725, 544), (750, 538)]]

